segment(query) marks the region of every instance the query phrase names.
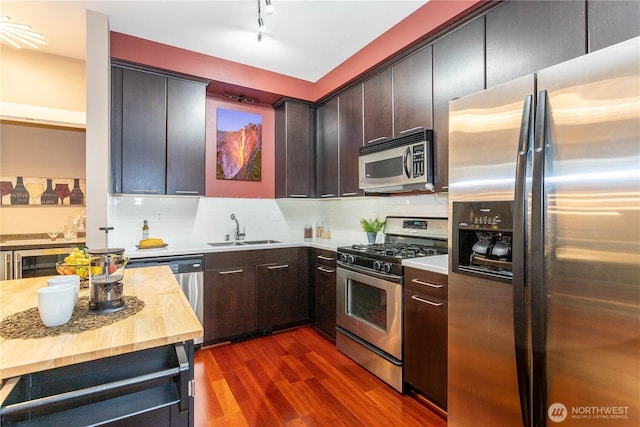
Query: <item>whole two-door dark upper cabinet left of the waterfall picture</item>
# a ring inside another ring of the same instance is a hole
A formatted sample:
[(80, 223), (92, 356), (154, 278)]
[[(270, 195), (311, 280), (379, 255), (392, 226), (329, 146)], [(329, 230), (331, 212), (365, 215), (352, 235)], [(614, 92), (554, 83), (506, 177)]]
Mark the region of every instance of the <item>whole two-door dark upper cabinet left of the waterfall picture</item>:
[(112, 67), (111, 181), (123, 194), (204, 194), (204, 82)]

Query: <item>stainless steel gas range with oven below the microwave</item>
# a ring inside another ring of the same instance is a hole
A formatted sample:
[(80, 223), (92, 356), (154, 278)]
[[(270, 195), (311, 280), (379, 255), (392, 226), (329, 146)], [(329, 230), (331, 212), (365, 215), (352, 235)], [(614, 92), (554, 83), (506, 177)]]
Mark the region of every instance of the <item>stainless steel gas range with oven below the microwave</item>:
[(447, 220), (390, 216), (384, 234), (338, 248), (336, 345), (402, 393), (402, 260), (446, 254)]

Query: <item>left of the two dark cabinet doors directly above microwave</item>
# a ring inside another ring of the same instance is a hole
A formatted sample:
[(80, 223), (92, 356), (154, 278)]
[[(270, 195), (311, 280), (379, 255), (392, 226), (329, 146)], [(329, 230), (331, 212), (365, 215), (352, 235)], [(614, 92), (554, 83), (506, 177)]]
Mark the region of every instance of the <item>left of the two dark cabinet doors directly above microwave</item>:
[(393, 138), (393, 72), (391, 68), (364, 82), (364, 143)]

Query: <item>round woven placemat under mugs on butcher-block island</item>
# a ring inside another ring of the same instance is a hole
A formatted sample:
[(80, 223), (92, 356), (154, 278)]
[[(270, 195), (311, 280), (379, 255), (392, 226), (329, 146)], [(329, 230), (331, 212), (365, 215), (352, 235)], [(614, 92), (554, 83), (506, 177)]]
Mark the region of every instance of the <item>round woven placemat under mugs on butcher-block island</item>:
[(33, 307), (19, 313), (12, 314), (0, 321), (0, 336), (3, 338), (43, 338), (62, 334), (77, 334), (133, 316), (144, 307), (144, 301), (135, 296), (124, 296), (127, 305), (120, 311), (106, 314), (94, 314), (88, 311), (89, 297), (78, 298), (78, 304), (73, 309), (71, 319), (61, 326), (48, 328), (44, 326), (38, 313), (38, 307)]

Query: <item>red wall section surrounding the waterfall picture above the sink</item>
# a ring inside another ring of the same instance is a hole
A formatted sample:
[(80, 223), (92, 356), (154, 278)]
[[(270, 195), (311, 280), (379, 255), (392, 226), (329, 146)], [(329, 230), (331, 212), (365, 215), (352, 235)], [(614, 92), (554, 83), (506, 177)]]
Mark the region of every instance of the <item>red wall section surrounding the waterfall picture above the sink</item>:
[[(244, 111), (262, 115), (262, 181), (216, 179), (217, 109)], [(206, 104), (206, 184), (208, 197), (275, 198), (275, 111), (271, 106), (240, 104), (218, 98), (207, 98)]]

